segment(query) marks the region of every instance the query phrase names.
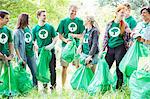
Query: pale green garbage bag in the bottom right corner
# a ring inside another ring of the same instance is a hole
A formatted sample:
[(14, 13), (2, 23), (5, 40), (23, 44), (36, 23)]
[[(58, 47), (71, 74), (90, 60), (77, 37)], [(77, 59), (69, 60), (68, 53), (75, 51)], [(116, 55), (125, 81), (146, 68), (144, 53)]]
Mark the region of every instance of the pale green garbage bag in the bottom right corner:
[(134, 71), (129, 80), (131, 99), (150, 99), (150, 72)]

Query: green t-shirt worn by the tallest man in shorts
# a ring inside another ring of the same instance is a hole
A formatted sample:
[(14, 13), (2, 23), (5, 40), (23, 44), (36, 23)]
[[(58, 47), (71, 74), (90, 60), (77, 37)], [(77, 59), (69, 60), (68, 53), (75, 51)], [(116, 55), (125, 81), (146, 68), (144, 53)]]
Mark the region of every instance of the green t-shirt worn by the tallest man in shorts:
[[(73, 34), (82, 34), (84, 31), (85, 27), (83, 25), (83, 20), (79, 18), (75, 19), (70, 19), (70, 18), (65, 18), (61, 20), (57, 32), (63, 35), (64, 38), (68, 38), (69, 33)], [(79, 46), (79, 39), (75, 38), (77, 46)], [(66, 45), (65, 42), (62, 42), (62, 47)]]

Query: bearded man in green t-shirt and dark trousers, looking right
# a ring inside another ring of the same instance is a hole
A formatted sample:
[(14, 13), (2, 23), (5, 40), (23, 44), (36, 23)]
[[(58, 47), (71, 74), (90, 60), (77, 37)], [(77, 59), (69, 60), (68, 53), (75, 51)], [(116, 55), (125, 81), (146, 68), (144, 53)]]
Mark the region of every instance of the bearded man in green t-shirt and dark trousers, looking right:
[[(54, 45), (57, 41), (57, 34), (52, 25), (46, 22), (46, 10), (37, 11), (38, 24), (32, 29), (33, 40), (36, 40), (38, 48), (38, 55), (43, 47), (52, 52), (52, 59), (49, 63), (51, 87), (53, 90), (56, 87), (56, 56), (54, 52)], [(47, 84), (43, 84), (44, 88)]]

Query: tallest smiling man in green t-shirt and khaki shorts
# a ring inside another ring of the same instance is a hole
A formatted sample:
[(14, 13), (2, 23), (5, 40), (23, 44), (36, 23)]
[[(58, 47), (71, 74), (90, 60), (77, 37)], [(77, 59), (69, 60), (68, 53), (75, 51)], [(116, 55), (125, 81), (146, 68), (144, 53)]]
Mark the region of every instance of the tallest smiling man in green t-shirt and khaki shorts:
[[(77, 6), (71, 5), (69, 8), (69, 17), (60, 21), (57, 32), (59, 32), (59, 38), (62, 40), (62, 52), (63, 48), (67, 43), (70, 42), (68, 39), (68, 34), (70, 33), (76, 40), (76, 46), (79, 46), (79, 39), (82, 37), (82, 33), (85, 29), (83, 21), (76, 17)], [(76, 67), (79, 67), (79, 60), (73, 62)], [(61, 59), (62, 66), (62, 87), (64, 87), (67, 75), (67, 67), (69, 63)]]

